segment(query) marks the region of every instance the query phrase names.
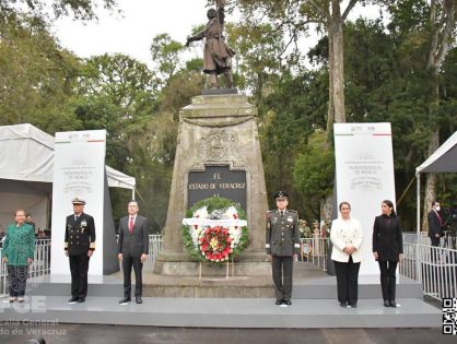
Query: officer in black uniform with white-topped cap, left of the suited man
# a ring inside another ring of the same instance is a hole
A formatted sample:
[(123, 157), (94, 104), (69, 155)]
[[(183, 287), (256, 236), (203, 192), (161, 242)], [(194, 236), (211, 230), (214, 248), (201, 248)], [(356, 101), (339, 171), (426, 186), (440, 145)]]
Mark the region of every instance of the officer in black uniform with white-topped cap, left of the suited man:
[(94, 217), (85, 214), (85, 201), (74, 198), (73, 214), (67, 216), (65, 250), (70, 259), (71, 298), (69, 304), (84, 303), (87, 295), (89, 260), (95, 250)]

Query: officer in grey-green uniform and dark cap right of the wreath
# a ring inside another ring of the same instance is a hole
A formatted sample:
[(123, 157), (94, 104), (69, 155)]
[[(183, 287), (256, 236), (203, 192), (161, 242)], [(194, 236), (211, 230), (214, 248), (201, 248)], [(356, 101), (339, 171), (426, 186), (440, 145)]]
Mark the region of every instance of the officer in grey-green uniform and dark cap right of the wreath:
[(277, 210), (267, 213), (266, 250), (272, 260), (277, 305), (292, 305), (292, 268), (300, 252), (298, 214), (288, 210), (289, 195), (274, 194)]

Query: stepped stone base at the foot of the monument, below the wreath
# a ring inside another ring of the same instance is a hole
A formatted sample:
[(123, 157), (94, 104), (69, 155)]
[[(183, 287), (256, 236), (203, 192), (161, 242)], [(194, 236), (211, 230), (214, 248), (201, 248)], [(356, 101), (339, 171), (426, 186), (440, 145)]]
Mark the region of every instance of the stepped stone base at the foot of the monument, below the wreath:
[(232, 262), (189, 261), (189, 254), (161, 251), (153, 274), (143, 277), (151, 297), (274, 297), (271, 262), (263, 251), (243, 252)]

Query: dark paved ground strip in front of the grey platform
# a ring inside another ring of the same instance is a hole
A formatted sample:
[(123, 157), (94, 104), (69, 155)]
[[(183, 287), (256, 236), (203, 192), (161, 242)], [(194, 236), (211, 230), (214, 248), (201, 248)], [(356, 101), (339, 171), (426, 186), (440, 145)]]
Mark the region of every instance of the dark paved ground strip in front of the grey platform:
[[(326, 329), (326, 330), (227, 330), (147, 328), (121, 325), (7, 325), (0, 329), (0, 343), (24, 344), (42, 334), (46, 343), (58, 344), (396, 344), (396, 343), (456, 343), (455, 335), (444, 335), (441, 329)], [(9, 331), (10, 334), (5, 334)]]

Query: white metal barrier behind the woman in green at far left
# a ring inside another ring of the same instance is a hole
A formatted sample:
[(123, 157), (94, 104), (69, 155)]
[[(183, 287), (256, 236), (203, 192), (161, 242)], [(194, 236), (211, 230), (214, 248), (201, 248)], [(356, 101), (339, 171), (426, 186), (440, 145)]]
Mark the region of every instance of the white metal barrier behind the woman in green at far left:
[[(0, 248), (1, 252), (1, 248)], [(50, 271), (50, 239), (35, 240), (35, 257), (33, 263), (28, 266), (28, 277), (38, 277), (49, 274)], [(8, 292), (7, 264), (0, 260), (0, 295)]]

